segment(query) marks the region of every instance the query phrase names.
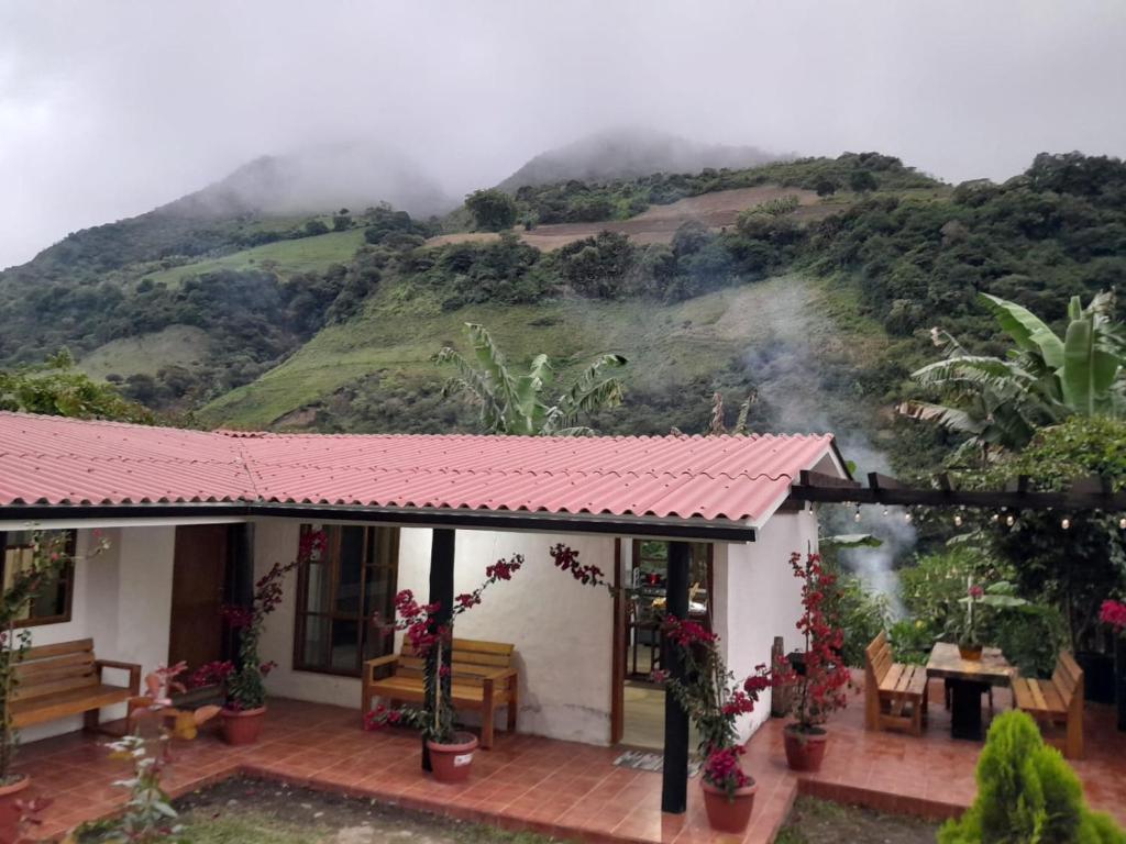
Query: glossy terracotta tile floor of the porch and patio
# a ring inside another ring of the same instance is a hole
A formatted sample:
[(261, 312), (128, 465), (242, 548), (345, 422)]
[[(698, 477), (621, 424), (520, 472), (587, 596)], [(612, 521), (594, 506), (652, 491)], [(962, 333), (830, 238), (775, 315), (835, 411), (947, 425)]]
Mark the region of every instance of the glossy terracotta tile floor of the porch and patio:
[[(999, 707), (1007, 697), (998, 694)], [(765, 725), (745, 757), (759, 793), (743, 842), (772, 841), (798, 792), (937, 818), (959, 812), (974, 796), (981, 745), (949, 737), (940, 684), (931, 699), (939, 704), (922, 738), (866, 733), (863, 701), (855, 700), (834, 718), (824, 766), (812, 776), (787, 770), (781, 721)], [(232, 748), (211, 734), (178, 743), (166, 785), (178, 794), (243, 771), (562, 838), (743, 844), (708, 829), (696, 780), (689, 782), (688, 811), (662, 815), (660, 774), (615, 767), (611, 748), (501, 733), (493, 749), (477, 753), (468, 783), (439, 785), (419, 771), (413, 735), (364, 733), (358, 720), (354, 709), (271, 700), (257, 745)], [(1126, 823), (1126, 734), (1114, 730), (1107, 707), (1088, 706), (1085, 726), (1088, 756), (1075, 769), (1090, 802)], [(55, 798), (41, 827), (44, 836), (111, 814), (124, 800), (111, 782), (126, 773), (125, 763), (107, 758), (90, 736), (30, 744), (18, 766), (34, 778), (30, 794)]]

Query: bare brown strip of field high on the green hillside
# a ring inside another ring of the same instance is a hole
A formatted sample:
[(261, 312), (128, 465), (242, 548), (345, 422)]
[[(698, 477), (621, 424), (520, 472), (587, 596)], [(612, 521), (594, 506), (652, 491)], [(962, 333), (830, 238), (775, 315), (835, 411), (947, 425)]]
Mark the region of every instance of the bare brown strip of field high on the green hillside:
[[(762, 185), (754, 188), (736, 188), (734, 190), (717, 190), (713, 194), (679, 199), (670, 205), (654, 205), (636, 217), (604, 223), (554, 223), (537, 226), (530, 232), (515, 231), (520, 239), (544, 252), (565, 246), (573, 241), (591, 237), (599, 232), (620, 232), (629, 236), (634, 243), (670, 243), (672, 235), (685, 222), (698, 219), (709, 228), (721, 230), (735, 224), (739, 213), (760, 203), (778, 199), (784, 196), (796, 196), (798, 203), (794, 216), (798, 219), (817, 219), (840, 210), (839, 205), (824, 205), (812, 190), (801, 188), (780, 188), (777, 185)], [(431, 237), (427, 243), (441, 246), (447, 243), (486, 243), (500, 237), (493, 232), (459, 232)]]

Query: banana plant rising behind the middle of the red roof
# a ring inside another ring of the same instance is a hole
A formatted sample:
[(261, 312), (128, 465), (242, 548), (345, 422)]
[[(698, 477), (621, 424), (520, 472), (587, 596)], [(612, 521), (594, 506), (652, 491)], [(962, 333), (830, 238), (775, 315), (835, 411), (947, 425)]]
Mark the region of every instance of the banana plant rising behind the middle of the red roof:
[(610, 375), (610, 370), (626, 365), (620, 354), (595, 358), (551, 399), (546, 394), (555, 380), (555, 370), (546, 354), (537, 354), (528, 371), (518, 375), (509, 369), (484, 326), (465, 323), (465, 334), (473, 347), (473, 362), (448, 345), (436, 358), (438, 363), (454, 368), (443, 395), (467, 396), (477, 405), (481, 425), (488, 433), (588, 436), (593, 431), (578, 424), (580, 414), (622, 404), (622, 381)]

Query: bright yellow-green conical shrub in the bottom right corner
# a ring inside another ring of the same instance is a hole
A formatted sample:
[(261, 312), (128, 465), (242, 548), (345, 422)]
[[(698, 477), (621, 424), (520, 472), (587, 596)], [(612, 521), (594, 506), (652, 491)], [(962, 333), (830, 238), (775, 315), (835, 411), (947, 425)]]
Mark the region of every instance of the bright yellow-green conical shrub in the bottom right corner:
[(977, 761), (977, 798), (947, 821), (939, 844), (1124, 844), (1105, 815), (1092, 812), (1083, 788), (1036, 722), (1011, 710), (993, 720)]

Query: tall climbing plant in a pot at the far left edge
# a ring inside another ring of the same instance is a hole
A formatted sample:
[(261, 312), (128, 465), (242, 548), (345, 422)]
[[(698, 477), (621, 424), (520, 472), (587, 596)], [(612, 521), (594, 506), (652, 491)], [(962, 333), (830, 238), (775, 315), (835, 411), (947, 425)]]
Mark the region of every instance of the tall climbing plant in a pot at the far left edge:
[[(95, 531), (95, 546), (89, 556), (100, 554), (108, 542)], [(8, 574), (8, 586), (0, 596), (0, 800), (23, 791), (32, 781), (25, 773), (11, 770), (19, 746), (10, 703), (19, 688), (19, 664), (32, 646), (32, 631), (17, 628), (44, 581), (74, 563), (65, 532), (32, 535), (29, 554), (16, 563)]]

